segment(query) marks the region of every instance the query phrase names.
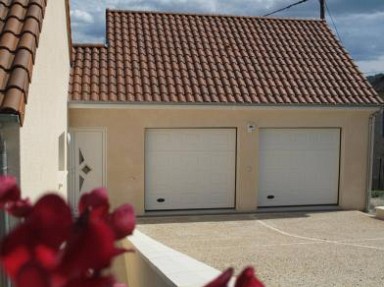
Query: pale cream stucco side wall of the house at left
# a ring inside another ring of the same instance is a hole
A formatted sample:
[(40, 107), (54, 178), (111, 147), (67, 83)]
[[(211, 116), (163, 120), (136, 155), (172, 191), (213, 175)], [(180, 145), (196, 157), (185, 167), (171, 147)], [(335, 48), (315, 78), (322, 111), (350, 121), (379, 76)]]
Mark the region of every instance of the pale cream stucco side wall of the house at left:
[[(69, 54), (65, 11), (65, 0), (48, 1), (20, 131), (21, 187), (31, 199), (48, 190), (66, 195), (66, 163), (59, 166), (59, 142), (67, 131)], [(65, 160), (65, 154), (61, 158)]]

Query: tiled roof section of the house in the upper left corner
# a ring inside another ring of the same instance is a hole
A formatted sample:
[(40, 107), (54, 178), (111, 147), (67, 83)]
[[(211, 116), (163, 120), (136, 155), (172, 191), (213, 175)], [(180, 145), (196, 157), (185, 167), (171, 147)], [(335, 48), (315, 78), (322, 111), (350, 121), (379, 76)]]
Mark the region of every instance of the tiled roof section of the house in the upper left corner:
[(0, 113), (24, 115), (46, 0), (0, 0)]

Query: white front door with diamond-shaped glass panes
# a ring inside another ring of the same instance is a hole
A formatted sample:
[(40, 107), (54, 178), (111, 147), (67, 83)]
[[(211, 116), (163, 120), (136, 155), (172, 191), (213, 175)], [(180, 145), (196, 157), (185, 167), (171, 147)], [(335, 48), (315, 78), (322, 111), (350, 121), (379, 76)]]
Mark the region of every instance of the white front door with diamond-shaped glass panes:
[(69, 200), (77, 208), (82, 193), (106, 184), (105, 131), (76, 129), (70, 132)]

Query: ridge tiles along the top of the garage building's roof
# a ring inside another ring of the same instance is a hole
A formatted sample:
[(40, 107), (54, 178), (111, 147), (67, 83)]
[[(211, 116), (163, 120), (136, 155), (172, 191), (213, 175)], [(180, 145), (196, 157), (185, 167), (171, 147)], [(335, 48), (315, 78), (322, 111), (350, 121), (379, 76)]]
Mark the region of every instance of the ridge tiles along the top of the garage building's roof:
[(137, 14), (159, 14), (159, 15), (171, 15), (171, 16), (196, 16), (196, 17), (226, 17), (226, 18), (251, 18), (261, 20), (283, 20), (283, 21), (304, 21), (304, 22), (326, 22), (324, 19), (317, 18), (284, 18), (284, 17), (265, 17), (258, 15), (233, 15), (233, 14), (215, 14), (215, 13), (193, 13), (193, 12), (167, 12), (167, 11), (144, 11), (144, 10), (126, 10), (126, 9), (106, 9), (106, 14), (111, 13), (137, 13)]

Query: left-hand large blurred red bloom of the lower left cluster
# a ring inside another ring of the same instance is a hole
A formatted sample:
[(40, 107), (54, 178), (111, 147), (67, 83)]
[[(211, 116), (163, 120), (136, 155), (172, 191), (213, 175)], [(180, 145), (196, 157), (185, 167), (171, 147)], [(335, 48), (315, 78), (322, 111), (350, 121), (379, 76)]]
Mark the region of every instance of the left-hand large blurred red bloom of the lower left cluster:
[(62, 198), (55, 194), (42, 197), (26, 220), (3, 240), (0, 259), (5, 271), (14, 278), (30, 262), (54, 268), (71, 225), (70, 209)]

